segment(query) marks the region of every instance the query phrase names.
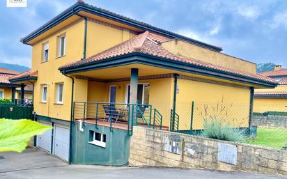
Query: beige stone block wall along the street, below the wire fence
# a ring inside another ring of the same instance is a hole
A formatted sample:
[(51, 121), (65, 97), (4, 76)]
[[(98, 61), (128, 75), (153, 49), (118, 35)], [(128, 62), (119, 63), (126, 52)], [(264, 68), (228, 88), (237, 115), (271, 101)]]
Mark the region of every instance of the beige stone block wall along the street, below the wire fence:
[(129, 163), (287, 175), (287, 150), (134, 127)]

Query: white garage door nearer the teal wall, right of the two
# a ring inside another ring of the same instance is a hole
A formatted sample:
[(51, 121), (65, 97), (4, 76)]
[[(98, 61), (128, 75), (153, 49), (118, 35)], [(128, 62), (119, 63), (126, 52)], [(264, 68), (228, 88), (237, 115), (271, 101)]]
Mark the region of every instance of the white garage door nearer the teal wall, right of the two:
[(54, 155), (68, 161), (70, 130), (59, 125), (55, 125), (54, 131)]

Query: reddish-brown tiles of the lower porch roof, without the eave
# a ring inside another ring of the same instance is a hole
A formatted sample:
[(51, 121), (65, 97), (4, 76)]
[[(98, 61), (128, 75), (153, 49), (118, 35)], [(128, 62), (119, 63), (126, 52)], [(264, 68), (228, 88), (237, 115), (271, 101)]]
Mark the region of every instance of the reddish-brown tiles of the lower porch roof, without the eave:
[(61, 68), (66, 67), (72, 67), (77, 65), (84, 65), (86, 63), (90, 63), (92, 61), (98, 61), (101, 59), (107, 59), (113, 56), (120, 56), (123, 54), (130, 54), (132, 52), (141, 52), (144, 54), (150, 54), (153, 56), (159, 56), (166, 59), (172, 59), (175, 61), (183, 61), (186, 63), (191, 63), (193, 65), (202, 66), (205, 68), (215, 69), (215, 70), (221, 70), (223, 72), (230, 72), (234, 75), (241, 75), (244, 77), (251, 77), (254, 79), (259, 79), (263, 81), (269, 81), (274, 84), (278, 83), (274, 79), (271, 79), (269, 77), (265, 77), (263, 75), (259, 74), (250, 74), (247, 72), (242, 72), (239, 70), (233, 70), (230, 68), (224, 68), (218, 65), (213, 65), (212, 63), (207, 63), (203, 61), (199, 61), (197, 59), (187, 59), (181, 56), (177, 56), (175, 54), (172, 54), (171, 52), (167, 51), (160, 45), (158, 45), (158, 42), (162, 41), (162, 36), (157, 35), (155, 33), (150, 33), (149, 31), (146, 31), (144, 33), (139, 34), (138, 36), (135, 36), (134, 38), (127, 40), (119, 45), (116, 45), (114, 47), (111, 47), (110, 49), (104, 50), (103, 52), (100, 52), (98, 54), (95, 54), (94, 56), (89, 57), (88, 59), (83, 59), (80, 61), (76, 61), (73, 63), (68, 63)]

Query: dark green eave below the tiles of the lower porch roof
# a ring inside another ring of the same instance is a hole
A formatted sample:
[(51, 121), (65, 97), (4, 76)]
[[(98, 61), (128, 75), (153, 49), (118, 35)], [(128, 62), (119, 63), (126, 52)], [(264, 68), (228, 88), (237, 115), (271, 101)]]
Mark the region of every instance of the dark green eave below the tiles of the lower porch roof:
[(277, 83), (270, 81), (264, 81), (260, 79), (254, 79), (251, 77), (245, 77), (242, 75), (236, 75), (231, 72), (223, 72), (222, 70), (206, 68), (191, 63), (176, 61), (172, 59), (166, 59), (159, 56), (153, 56), (150, 54), (143, 54), (141, 52), (133, 52), (130, 54), (124, 54), (121, 56), (114, 56), (108, 59), (102, 59), (98, 61), (92, 61), (82, 65), (70, 66), (59, 68), (63, 74), (71, 74), (75, 72), (84, 72), (88, 70), (98, 70), (102, 68), (110, 68), (117, 65), (127, 65), (132, 63), (142, 63), (146, 65), (153, 65), (160, 68), (168, 68), (171, 70), (178, 70), (182, 72), (190, 72), (198, 75), (205, 75), (209, 77), (217, 77), (221, 79), (227, 79), (230, 81), (242, 82), (245, 84), (251, 84), (254, 86), (262, 86), (267, 88), (274, 88)]

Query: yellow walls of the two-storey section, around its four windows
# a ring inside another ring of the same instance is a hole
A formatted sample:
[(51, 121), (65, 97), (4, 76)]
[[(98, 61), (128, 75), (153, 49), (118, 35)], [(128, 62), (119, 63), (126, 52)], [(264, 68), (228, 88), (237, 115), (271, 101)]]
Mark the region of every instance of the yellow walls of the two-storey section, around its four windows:
[[(116, 29), (113, 26), (98, 24), (91, 20), (88, 20), (87, 27), (87, 57), (134, 36), (134, 33), (126, 29)], [(59, 36), (63, 34), (66, 36), (65, 56), (58, 57), (58, 40)], [(49, 43), (49, 58), (47, 62), (42, 62), (43, 44), (45, 43)], [(62, 75), (58, 68), (83, 57), (84, 20), (66, 24), (62, 29), (49, 34), (49, 36), (37, 42), (33, 41), (32, 47), (31, 70), (38, 70), (38, 80), (34, 87), (35, 111), (40, 116), (70, 120), (72, 80)], [(63, 104), (56, 103), (56, 83), (64, 84)], [(47, 102), (41, 102), (41, 85), (44, 84), (47, 85)], [(87, 93), (83, 91), (83, 89), (87, 89), (83, 85), (83, 80), (75, 80), (75, 100), (87, 99)]]

